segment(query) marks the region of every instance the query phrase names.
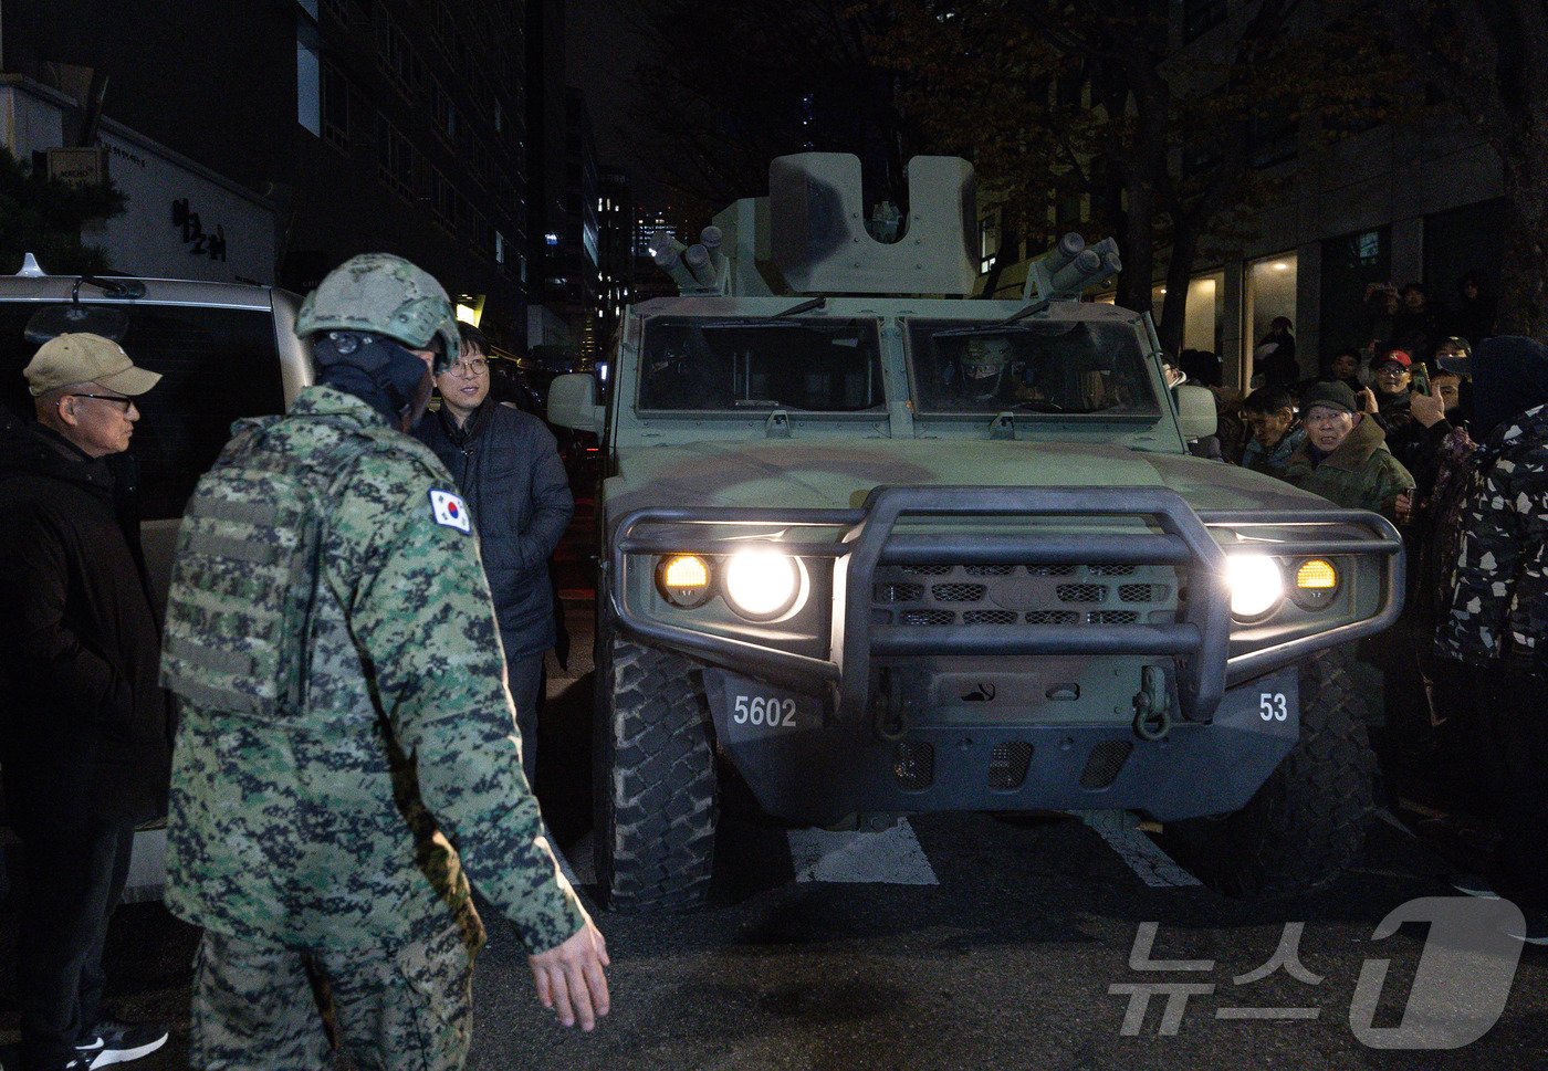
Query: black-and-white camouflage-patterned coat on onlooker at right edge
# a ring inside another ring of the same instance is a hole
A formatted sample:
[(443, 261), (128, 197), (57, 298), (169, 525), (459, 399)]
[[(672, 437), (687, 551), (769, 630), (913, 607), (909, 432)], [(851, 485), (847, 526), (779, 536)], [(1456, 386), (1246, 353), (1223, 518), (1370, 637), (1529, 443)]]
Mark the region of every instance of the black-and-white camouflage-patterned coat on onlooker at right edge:
[(1548, 673), (1548, 405), (1500, 424), (1477, 457), (1435, 650)]

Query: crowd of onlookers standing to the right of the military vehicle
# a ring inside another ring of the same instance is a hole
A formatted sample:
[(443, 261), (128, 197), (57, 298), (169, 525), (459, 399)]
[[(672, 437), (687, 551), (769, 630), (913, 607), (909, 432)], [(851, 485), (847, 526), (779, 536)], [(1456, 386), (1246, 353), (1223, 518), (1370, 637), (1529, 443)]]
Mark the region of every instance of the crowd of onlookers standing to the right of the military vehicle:
[[(1494, 336), (1477, 280), (1441, 310), (1424, 288), (1373, 285), (1370, 334), (1302, 378), (1280, 317), (1254, 350), (1252, 390), (1214, 354), (1178, 365), (1217, 398), (1214, 443), (1194, 452), (1382, 514), (1404, 537), (1399, 624), (1351, 652), (1370, 686), (1389, 782), (1423, 763), (1450, 803), (1492, 816), (1488, 881), (1548, 901), (1548, 347)], [(1362, 687), (1362, 690), (1367, 690)], [(1478, 882), (1486, 888), (1485, 882)]]

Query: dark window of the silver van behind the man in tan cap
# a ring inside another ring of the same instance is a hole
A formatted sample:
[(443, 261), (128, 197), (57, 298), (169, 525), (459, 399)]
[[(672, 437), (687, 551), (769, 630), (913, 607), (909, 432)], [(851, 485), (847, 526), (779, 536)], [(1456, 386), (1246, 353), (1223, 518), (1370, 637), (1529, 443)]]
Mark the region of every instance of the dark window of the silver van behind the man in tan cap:
[[(37, 347), (23, 337), (40, 306), (0, 306), (0, 392), (33, 416), (22, 368)], [(183, 515), (194, 484), (215, 463), (238, 416), (285, 410), (274, 317), (268, 310), (125, 305), (124, 348), (163, 379), (139, 401), (130, 452), (139, 460), (141, 515)]]

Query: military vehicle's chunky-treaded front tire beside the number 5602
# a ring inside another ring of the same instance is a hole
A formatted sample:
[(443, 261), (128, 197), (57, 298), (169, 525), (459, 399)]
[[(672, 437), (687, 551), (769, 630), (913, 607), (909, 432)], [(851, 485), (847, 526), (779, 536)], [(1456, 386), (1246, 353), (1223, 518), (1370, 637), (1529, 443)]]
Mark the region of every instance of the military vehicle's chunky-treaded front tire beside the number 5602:
[(720, 799), (707, 704), (687, 659), (599, 636), (596, 878), (615, 912), (704, 902)]

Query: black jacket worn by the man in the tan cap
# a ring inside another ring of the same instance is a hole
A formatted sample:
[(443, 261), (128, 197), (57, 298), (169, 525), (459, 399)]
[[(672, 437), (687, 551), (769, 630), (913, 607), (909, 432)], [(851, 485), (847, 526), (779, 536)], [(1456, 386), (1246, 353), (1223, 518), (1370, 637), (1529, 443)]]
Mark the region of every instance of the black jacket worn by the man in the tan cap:
[(166, 806), (172, 720), (132, 497), (127, 457), (0, 427), (0, 765), (23, 836)]

